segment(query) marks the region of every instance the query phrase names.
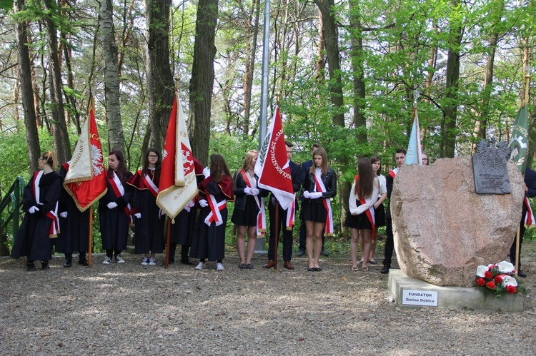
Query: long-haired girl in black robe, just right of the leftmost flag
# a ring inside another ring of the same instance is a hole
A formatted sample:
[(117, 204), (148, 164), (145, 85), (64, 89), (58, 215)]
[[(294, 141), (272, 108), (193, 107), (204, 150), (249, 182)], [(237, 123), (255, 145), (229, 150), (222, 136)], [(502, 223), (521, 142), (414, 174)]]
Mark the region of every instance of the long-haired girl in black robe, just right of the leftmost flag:
[(111, 263), (115, 257), (116, 263), (124, 263), (121, 250), (126, 248), (129, 235), (130, 200), (132, 188), (126, 180), (132, 173), (126, 171), (124, 155), (121, 151), (111, 151), (108, 156), (108, 171), (106, 172), (106, 188), (108, 191), (99, 200), (99, 219), (102, 248), (106, 250), (104, 265)]

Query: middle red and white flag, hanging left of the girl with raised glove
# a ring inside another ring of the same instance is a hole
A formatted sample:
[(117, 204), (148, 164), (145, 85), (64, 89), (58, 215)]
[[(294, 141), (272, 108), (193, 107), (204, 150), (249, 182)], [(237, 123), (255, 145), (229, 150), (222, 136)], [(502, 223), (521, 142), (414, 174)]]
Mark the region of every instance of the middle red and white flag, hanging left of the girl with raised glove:
[(157, 205), (171, 219), (197, 195), (194, 155), (177, 92), (167, 126), (158, 190)]

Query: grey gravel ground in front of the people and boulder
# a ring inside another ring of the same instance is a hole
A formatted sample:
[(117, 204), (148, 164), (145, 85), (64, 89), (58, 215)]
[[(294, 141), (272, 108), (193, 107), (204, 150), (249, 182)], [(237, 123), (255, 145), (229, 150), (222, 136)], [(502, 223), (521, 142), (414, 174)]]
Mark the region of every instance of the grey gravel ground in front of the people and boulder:
[[(535, 250), (536, 243), (532, 244)], [(530, 245), (527, 246), (530, 249)], [(535, 355), (535, 254), (522, 280), (525, 310), (508, 314), (399, 307), (381, 265), (352, 272), (349, 256), (323, 258), (322, 272), (225, 270), (126, 263), (26, 272), (0, 259), (1, 355)], [(525, 260), (525, 259), (524, 259)]]

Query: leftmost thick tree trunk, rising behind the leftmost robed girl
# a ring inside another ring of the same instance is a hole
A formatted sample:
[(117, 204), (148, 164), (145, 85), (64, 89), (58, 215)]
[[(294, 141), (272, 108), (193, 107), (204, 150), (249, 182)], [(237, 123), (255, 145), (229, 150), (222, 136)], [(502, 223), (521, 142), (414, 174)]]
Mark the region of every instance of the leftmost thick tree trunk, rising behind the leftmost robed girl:
[[(24, 0), (16, 0), (13, 3), (14, 12), (24, 9)], [(31, 82), (31, 64), (28, 49), (28, 36), (26, 35), (26, 21), (15, 23), (15, 36), (17, 56), (19, 59), (19, 75), (21, 81), (22, 108), (24, 110), (24, 124), (26, 125), (26, 141), (28, 142), (28, 159), (32, 172), (39, 169), (37, 160), (41, 156), (39, 148), (39, 133), (34, 107), (34, 90)]]

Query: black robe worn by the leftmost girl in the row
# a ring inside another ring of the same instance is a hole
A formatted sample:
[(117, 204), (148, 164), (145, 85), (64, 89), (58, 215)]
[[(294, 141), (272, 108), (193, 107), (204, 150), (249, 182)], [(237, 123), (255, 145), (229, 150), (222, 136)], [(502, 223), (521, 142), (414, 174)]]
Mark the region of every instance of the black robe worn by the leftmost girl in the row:
[[(56, 209), (61, 190), (61, 179), (56, 171), (43, 174), (39, 181), (39, 202), (37, 202), (33, 189), (34, 177), (35, 175), (31, 176), (29, 183), (24, 187), (22, 210), (26, 212), (26, 215), (24, 215), (21, 228), (13, 244), (11, 257), (26, 256), (31, 261), (51, 260), (53, 241), (50, 236), (50, 227), (52, 220), (46, 216), (46, 213)], [(39, 208), (39, 211), (30, 214), (28, 210), (32, 206)]]

